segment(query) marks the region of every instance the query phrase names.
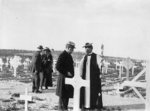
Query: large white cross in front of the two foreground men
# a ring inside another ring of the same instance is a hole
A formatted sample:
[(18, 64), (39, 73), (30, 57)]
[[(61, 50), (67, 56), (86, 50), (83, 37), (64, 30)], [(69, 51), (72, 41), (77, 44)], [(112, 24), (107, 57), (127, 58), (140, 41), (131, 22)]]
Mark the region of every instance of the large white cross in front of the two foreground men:
[(83, 80), (79, 74), (75, 74), (73, 78), (66, 78), (65, 84), (70, 84), (74, 87), (73, 111), (80, 111), (80, 88), (82, 86), (89, 87), (89, 81)]

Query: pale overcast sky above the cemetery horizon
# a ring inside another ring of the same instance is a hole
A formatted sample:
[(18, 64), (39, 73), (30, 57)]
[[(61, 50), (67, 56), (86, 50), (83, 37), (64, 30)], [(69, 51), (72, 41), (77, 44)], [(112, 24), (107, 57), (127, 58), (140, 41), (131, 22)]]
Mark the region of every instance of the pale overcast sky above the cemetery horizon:
[(150, 47), (149, 0), (0, 0), (0, 49), (38, 45), (75, 51), (86, 42), (104, 55), (145, 59)]

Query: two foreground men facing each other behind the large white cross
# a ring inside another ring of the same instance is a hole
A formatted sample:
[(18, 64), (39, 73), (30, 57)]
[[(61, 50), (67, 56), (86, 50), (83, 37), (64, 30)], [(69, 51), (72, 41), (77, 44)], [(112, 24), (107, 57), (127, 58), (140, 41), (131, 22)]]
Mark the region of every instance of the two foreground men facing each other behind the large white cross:
[[(101, 66), (102, 58), (93, 53), (93, 45), (86, 43), (85, 56), (80, 63), (80, 76), (84, 80), (89, 80), (89, 87), (83, 87), (80, 90), (80, 108), (83, 110), (98, 110), (103, 108), (101, 91)], [(56, 69), (58, 72), (56, 95), (59, 96), (59, 110), (67, 111), (69, 98), (73, 98), (73, 87), (65, 84), (65, 78), (73, 78), (74, 61), (71, 56), (75, 49), (75, 43), (69, 41), (66, 49), (59, 55)], [(78, 73), (76, 73), (78, 74)], [(80, 83), (77, 83), (80, 84)]]

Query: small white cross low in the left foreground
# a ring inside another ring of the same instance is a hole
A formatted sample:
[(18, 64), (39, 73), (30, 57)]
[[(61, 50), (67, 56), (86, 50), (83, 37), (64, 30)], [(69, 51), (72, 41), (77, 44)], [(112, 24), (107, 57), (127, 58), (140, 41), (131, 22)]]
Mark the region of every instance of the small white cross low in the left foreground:
[(20, 95), (21, 100), (25, 100), (25, 111), (28, 111), (28, 101), (32, 101), (32, 96), (28, 95), (28, 89), (25, 88), (25, 95)]

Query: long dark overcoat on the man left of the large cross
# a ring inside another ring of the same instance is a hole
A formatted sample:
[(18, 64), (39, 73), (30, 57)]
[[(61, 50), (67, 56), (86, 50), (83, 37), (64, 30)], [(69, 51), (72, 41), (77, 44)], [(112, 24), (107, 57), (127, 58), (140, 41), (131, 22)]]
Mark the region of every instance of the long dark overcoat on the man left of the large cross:
[[(74, 62), (71, 54), (64, 50), (59, 55), (56, 63), (56, 69), (58, 71), (56, 95), (61, 98), (73, 98), (73, 87), (65, 84), (65, 78), (72, 78), (74, 76), (73, 64)], [(72, 74), (71, 77), (67, 75), (68, 72)]]

